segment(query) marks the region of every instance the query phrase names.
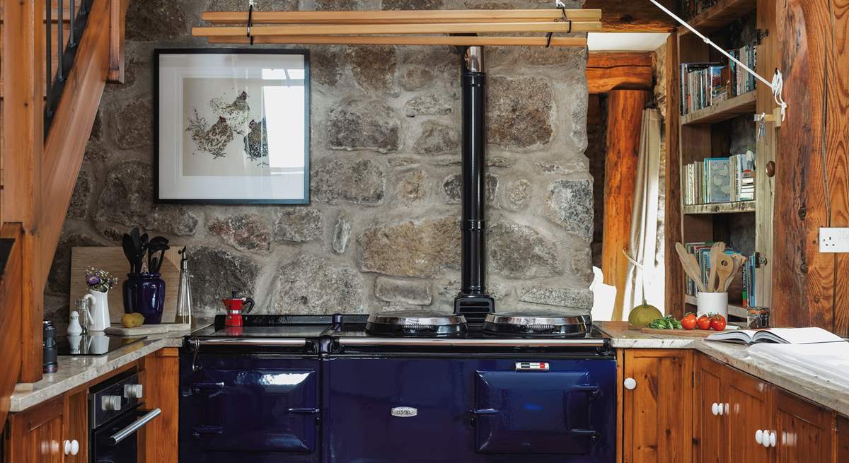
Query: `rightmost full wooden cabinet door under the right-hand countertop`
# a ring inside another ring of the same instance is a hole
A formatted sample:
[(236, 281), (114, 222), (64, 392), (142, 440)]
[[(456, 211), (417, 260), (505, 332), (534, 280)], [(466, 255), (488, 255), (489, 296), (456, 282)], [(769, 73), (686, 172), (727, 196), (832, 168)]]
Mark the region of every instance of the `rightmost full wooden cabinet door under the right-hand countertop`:
[(776, 390), (775, 455), (779, 463), (832, 461), (835, 414), (793, 394)]

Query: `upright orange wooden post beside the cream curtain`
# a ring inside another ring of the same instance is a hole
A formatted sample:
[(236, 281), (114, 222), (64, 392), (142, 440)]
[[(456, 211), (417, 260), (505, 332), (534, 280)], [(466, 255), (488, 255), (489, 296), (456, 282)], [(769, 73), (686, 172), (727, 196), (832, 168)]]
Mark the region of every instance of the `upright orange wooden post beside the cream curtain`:
[(621, 320), (624, 313), (628, 262), (622, 249), (627, 248), (631, 237), (639, 139), (648, 98), (649, 92), (642, 90), (614, 90), (607, 99), (602, 271), (604, 282), (616, 286), (613, 320)]

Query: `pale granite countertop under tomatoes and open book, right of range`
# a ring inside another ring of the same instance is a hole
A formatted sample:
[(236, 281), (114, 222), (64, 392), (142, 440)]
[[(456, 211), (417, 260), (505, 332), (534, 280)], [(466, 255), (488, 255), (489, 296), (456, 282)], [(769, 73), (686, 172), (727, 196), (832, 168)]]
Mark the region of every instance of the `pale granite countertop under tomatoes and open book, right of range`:
[[(627, 321), (599, 321), (615, 349), (694, 349), (712, 359), (745, 371), (753, 377), (796, 393), (842, 415), (849, 416), (849, 383), (825, 376), (822, 368), (773, 360), (771, 349), (792, 349), (786, 344), (758, 344), (758, 352), (744, 344), (706, 341), (699, 337), (663, 337), (628, 330)], [(766, 353), (766, 354), (765, 354)]]

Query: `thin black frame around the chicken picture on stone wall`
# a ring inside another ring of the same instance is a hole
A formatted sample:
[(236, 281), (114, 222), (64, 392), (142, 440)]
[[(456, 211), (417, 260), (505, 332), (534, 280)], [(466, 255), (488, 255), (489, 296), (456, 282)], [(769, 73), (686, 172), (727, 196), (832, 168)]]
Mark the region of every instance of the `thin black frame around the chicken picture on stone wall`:
[[(304, 197), (302, 199), (162, 198), (160, 196), (160, 57), (166, 54), (275, 54), (301, 55), (304, 60)], [(154, 49), (154, 203), (155, 204), (310, 204), (310, 51), (306, 48), (155, 48)]]

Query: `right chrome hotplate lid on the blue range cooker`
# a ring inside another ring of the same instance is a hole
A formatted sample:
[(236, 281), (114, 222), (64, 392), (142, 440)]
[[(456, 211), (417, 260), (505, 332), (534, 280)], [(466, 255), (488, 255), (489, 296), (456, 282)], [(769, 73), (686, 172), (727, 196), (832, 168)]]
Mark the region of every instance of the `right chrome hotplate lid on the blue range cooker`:
[(591, 321), (586, 315), (555, 310), (522, 310), (486, 315), (483, 331), (499, 336), (582, 336)]

